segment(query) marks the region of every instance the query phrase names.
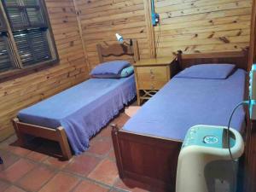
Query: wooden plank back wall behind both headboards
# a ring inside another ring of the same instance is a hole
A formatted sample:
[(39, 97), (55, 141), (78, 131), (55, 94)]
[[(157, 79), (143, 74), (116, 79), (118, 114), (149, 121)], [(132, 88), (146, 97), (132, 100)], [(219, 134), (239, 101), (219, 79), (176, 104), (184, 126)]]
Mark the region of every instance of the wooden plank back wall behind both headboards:
[(150, 2), (74, 0), (90, 67), (98, 62), (96, 44), (112, 44), (116, 32), (137, 38), (142, 58), (154, 51), (166, 56), (178, 49), (230, 51), (249, 45), (252, 0), (155, 0), (160, 14), (160, 26), (155, 27), (149, 23)]

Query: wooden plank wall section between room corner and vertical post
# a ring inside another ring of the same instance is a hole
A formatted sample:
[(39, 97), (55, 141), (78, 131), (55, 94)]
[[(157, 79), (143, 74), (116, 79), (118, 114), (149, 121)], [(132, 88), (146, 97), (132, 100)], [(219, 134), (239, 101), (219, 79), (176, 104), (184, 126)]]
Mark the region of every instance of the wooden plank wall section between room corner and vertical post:
[(98, 64), (96, 44), (113, 44), (115, 33), (137, 38), (141, 58), (149, 57), (143, 0), (74, 0), (90, 67)]

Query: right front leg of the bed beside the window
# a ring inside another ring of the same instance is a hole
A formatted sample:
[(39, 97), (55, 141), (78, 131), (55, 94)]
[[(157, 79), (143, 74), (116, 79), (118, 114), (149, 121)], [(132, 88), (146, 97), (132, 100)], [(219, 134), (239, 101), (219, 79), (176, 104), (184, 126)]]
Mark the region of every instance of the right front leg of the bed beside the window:
[(63, 127), (58, 127), (56, 129), (59, 139), (59, 144), (61, 146), (61, 152), (65, 160), (69, 160), (72, 157), (69, 144), (67, 142), (67, 135)]

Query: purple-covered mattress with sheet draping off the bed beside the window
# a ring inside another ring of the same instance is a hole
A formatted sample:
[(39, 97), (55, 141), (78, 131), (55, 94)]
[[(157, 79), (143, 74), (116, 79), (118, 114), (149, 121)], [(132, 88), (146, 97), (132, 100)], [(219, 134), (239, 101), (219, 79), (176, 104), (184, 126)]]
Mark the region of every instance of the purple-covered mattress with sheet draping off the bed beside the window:
[(136, 96), (134, 75), (89, 79), (18, 113), (21, 122), (55, 129), (63, 126), (74, 154)]

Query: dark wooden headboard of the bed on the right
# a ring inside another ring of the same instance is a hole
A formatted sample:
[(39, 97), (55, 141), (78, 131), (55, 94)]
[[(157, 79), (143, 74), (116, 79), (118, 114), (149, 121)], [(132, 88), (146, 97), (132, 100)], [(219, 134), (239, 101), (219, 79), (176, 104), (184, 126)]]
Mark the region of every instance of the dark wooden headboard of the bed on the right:
[(235, 64), (236, 67), (247, 71), (248, 67), (248, 53), (247, 51), (232, 51), (232, 52), (215, 52), (215, 53), (196, 53), (183, 54), (178, 51), (177, 60), (179, 69), (183, 70), (197, 64), (207, 63), (230, 63)]

